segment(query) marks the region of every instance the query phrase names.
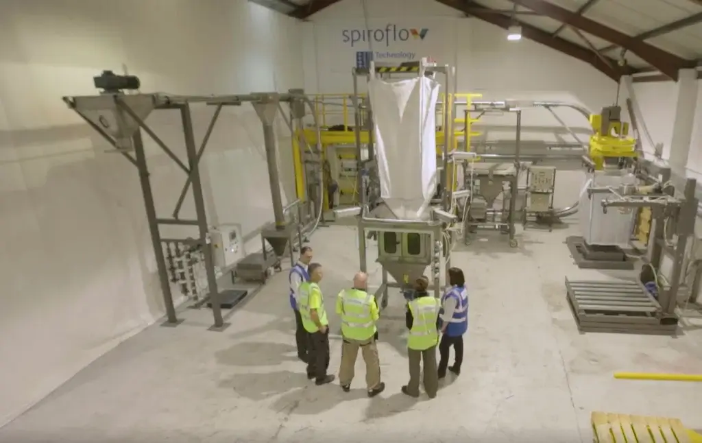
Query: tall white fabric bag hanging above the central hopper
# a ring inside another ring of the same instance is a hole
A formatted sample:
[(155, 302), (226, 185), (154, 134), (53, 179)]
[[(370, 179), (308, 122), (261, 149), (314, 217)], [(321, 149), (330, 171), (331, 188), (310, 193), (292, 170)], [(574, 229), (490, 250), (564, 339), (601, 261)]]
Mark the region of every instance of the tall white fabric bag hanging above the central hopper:
[(373, 79), (380, 197), (397, 218), (421, 218), (437, 187), (436, 105), (441, 85), (428, 77)]

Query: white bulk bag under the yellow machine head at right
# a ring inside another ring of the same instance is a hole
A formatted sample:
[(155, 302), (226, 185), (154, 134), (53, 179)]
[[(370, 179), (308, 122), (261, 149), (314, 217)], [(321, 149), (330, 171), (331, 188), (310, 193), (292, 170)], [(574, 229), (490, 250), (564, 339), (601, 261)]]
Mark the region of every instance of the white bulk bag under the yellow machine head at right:
[(602, 211), (602, 201), (612, 199), (614, 194), (597, 193), (588, 197), (588, 187), (634, 185), (636, 179), (631, 174), (595, 171), (585, 183), (580, 194), (581, 230), (585, 243), (599, 246), (627, 246), (633, 228), (635, 212), (610, 206), (607, 213)]

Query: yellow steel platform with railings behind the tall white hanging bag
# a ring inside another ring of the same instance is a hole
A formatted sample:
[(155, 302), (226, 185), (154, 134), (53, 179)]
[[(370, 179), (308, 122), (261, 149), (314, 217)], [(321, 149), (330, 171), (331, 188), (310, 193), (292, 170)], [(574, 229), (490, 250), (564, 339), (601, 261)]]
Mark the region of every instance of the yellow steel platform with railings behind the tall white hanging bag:
[[(359, 98), (364, 99), (365, 94), (359, 94)], [(444, 100), (445, 94), (440, 96), (442, 101), (442, 107), (437, 110), (437, 121), (444, 121), (444, 112), (451, 113), (453, 110), (453, 103), (458, 101), (465, 101), (458, 106), (470, 107), (471, 102), (475, 98), (481, 98), (481, 94), (473, 93), (456, 93), (449, 94), (449, 100)], [(356, 134), (355, 131), (350, 130), (349, 127), (355, 124), (355, 108), (353, 107), (351, 94), (317, 94), (313, 96), (314, 100), (314, 110), (317, 114), (317, 121), (319, 121), (320, 126), (322, 126), (322, 140), (319, 140), (322, 145), (322, 161), (326, 161), (327, 154), (326, 150), (330, 146), (335, 145), (355, 145)], [(448, 105), (448, 107), (447, 107)], [(449, 114), (449, 118), (453, 117)], [(470, 138), (480, 135), (477, 131), (472, 131), (472, 124), (478, 121), (478, 119), (468, 118), (465, 121), (464, 118), (456, 117), (453, 119), (454, 124), (463, 127), (467, 124), (465, 131), (461, 129), (460, 131), (453, 131), (453, 143), (452, 150), (458, 149), (459, 138), (465, 139), (466, 150), (470, 150)], [(331, 130), (330, 128), (341, 127), (341, 130)], [(443, 125), (442, 125), (443, 126)], [(361, 143), (368, 143), (368, 131), (361, 131)], [(293, 166), (295, 169), (295, 188), (296, 194), (300, 201), (305, 201), (307, 199), (307, 193), (305, 192), (305, 169), (303, 168), (303, 147), (300, 146), (300, 140), (307, 140), (310, 145), (317, 144), (317, 131), (314, 128), (305, 128), (304, 130), (296, 131), (296, 136), (292, 138), (292, 150), (293, 150)], [(444, 147), (444, 139), (446, 137), (444, 128), (441, 131), (437, 131), (436, 143), (437, 143), (437, 156), (442, 155)], [(355, 159), (355, 154), (349, 156), (348, 158)], [(456, 187), (456, 180), (453, 178), (453, 171), (448, 171), (448, 180), (453, 183), (453, 187)], [(355, 190), (354, 190), (355, 192)], [(329, 201), (327, 201), (326, 192), (324, 193), (324, 209), (329, 209)]]

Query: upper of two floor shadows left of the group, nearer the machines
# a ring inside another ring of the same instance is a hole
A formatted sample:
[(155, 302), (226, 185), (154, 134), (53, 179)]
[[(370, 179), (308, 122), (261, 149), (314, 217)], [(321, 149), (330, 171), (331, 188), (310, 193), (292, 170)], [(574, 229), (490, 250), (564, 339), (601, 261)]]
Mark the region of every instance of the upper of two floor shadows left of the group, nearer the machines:
[(298, 361), (293, 345), (270, 342), (244, 342), (215, 352), (220, 364), (227, 366), (275, 366), (283, 362)]

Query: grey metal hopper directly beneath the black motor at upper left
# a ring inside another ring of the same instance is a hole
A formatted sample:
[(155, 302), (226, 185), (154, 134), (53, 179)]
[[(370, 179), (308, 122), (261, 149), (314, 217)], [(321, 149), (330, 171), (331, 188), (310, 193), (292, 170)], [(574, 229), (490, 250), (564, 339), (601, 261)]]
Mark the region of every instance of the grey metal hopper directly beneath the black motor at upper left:
[(148, 117), (156, 105), (152, 94), (89, 95), (74, 97), (72, 100), (73, 109), (102, 131), (111, 135), (117, 143), (117, 149), (122, 151), (133, 149), (131, 137), (139, 124), (121, 105), (117, 104), (117, 100), (128, 106), (142, 121)]

